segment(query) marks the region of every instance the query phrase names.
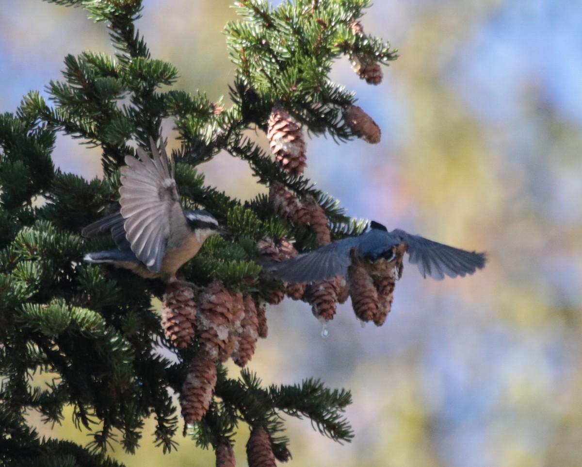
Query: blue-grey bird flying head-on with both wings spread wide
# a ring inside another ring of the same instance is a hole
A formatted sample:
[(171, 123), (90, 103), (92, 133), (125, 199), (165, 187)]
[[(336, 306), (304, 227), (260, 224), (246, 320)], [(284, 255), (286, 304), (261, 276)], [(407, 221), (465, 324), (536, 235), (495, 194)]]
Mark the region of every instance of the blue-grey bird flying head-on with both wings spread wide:
[(358, 262), (371, 275), (385, 275), (396, 268), (400, 277), (404, 252), (409, 254), (409, 262), (418, 266), (424, 278), (429, 276), (436, 280), (445, 275), (454, 278), (473, 274), (487, 261), (485, 253), (443, 245), (400, 229), (388, 232), (384, 225), (371, 221), (368, 229), (360, 235), (336, 240), (292, 259), (264, 265), (263, 270), (268, 276), (290, 284), (310, 284), (331, 280), (335, 276), (347, 277), (350, 266)]

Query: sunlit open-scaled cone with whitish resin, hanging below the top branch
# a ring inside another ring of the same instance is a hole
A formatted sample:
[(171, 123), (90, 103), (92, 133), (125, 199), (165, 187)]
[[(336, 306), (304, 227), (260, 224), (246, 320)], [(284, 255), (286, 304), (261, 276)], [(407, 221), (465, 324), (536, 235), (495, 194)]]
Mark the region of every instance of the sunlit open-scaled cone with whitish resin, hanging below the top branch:
[(305, 141), (297, 123), (281, 105), (276, 104), (268, 125), (269, 146), (276, 160), (288, 174), (303, 174), (306, 166)]

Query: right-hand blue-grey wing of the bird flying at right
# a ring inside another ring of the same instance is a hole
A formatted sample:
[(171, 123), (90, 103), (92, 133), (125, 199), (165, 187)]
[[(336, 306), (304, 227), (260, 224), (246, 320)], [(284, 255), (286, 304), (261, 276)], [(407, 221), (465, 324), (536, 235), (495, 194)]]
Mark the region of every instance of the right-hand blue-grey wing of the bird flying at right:
[(464, 277), (485, 266), (485, 253), (468, 252), (398, 229), (392, 231), (391, 235), (398, 236), (408, 245), (409, 261), (418, 266), (423, 277), (430, 275), (437, 280), (445, 275)]

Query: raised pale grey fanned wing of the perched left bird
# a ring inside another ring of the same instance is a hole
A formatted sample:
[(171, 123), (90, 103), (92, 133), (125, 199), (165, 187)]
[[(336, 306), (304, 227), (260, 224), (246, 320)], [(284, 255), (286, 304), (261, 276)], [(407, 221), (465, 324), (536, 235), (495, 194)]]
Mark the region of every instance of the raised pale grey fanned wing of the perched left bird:
[(150, 139), (150, 144), (151, 158), (141, 148), (137, 149), (139, 159), (125, 157), (127, 165), (121, 168), (119, 204), (132, 251), (152, 273), (158, 273), (170, 238), (170, 226), (180, 223), (186, 226), (186, 217), (165, 148), (162, 145), (160, 154), (154, 140)]

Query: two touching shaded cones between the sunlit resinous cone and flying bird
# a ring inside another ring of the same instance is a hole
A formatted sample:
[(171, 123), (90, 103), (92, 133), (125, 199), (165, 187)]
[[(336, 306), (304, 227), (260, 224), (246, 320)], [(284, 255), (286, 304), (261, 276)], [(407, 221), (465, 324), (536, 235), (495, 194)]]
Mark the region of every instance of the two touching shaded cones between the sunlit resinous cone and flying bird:
[(283, 219), (296, 225), (310, 225), (321, 245), (331, 241), (325, 211), (310, 194), (300, 200), (283, 183), (272, 181), (269, 186), (269, 200), (275, 213)]

